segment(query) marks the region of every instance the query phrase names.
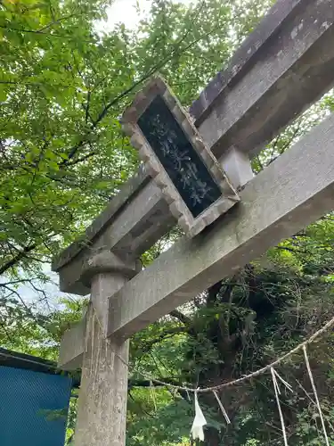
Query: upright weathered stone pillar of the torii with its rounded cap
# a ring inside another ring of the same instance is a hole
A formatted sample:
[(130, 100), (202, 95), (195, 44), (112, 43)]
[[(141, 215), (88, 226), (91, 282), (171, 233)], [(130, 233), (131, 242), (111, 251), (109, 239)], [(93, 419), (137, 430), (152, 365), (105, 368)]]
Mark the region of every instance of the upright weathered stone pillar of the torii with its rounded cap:
[(82, 269), (91, 301), (86, 317), (86, 343), (78, 398), (75, 446), (124, 446), (128, 341), (106, 338), (108, 301), (138, 272), (110, 251), (99, 251)]

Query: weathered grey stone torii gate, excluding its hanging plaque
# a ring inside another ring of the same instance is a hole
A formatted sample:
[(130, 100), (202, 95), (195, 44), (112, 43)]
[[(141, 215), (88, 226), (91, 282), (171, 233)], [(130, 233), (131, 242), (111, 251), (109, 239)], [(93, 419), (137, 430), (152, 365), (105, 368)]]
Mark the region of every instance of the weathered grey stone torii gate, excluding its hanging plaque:
[(131, 335), (334, 209), (334, 115), (257, 177), (249, 164), (333, 82), (332, 0), (279, 0), (190, 109), (238, 205), (141, 270), (140, 255), (176, 222), (141, 168), (53, 261), (61, 291), (91, 294), (59, 359), (82, 368), (77, 446), (125, 445)]

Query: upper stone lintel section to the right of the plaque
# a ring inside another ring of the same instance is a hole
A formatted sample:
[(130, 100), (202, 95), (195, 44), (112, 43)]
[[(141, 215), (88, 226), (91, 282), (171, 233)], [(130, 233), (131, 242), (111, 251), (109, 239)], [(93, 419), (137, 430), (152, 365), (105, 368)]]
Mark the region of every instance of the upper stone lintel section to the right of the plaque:
[[(329, 90), (334, 76), (332, 0), (279, 0), (191, 106), (219, 158), (231, 145), (253, 157)], [(228, 174), (228, 172), (227, 172)]]

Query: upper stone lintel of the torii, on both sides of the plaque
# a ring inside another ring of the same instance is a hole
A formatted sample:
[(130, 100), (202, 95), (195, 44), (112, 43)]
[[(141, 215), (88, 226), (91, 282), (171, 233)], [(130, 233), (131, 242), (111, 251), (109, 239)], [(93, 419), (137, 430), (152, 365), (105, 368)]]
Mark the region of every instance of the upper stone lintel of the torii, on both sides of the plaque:
[[(331, 0), (277, 2), (241, 45), (228, 69), (193, 104), (191, 114), (200, 134), (218, 158), (232, 145), (251, 158), (330, 89), (334, 80), (333, 8)], [(155, 190), (151, 190), (149, 205), (147, 187)], [(161, 191), (143, 171), (123, 189), (87, 231), (84, 246), (103, 240), (119, 257), (136, 258), (175, 225), (175, 219)], [(81, 242), (53, 262), (53, 269), (61, 275), (62, 291), (89, 293), (79, 279), (89, 255)]]

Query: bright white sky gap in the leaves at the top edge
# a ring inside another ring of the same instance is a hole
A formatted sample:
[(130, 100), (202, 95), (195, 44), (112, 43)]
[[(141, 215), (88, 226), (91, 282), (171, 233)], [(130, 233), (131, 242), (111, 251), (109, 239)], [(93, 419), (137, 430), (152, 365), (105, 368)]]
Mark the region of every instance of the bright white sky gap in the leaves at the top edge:
[[(175, 3), (191, 4), (193, 0), (174, 0)], [(139, 4), (138, 13), (136, 5)], [(118, 23), (124, 23), (127, 29), (135, 29), (138, 22), (150, 11), (152, 0), (115, 0), (108, 9), (108, 20), (97, 24), (96, 29), (108, 32)]]

